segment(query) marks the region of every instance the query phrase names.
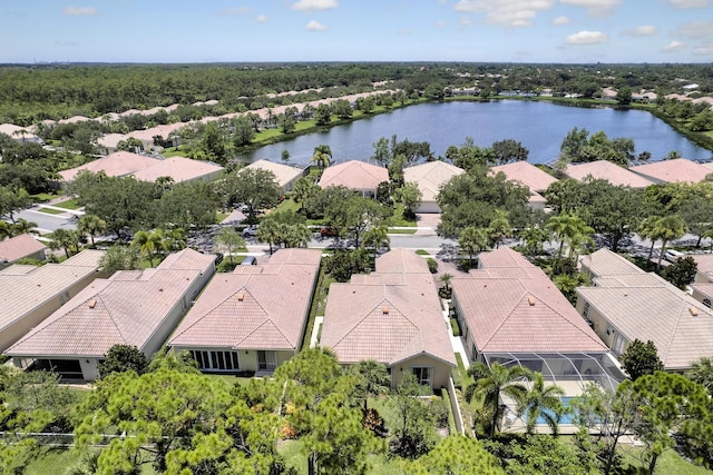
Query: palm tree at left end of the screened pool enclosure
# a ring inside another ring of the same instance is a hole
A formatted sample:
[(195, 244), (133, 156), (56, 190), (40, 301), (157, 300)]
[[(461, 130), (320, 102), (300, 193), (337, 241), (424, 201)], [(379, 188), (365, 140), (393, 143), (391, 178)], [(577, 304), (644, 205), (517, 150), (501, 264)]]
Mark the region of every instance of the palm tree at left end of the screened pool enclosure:
[(468, 369), (468, 375), (473, 377), (475, 383), (466, 389), (466, 398), (470, 402), (475, 393), (484, 394), (484, 407), (490, 407), (491, 410), (490, 438), (492, 438), (505, 409), (500, 404), (500, 394), (510, 396), (516, 402), (521, 400), (527, 388), (518, 382), (529, 379), (530, 372), (522, 366), (508, 367), (499, 363), (488, 366), (477, 362)]

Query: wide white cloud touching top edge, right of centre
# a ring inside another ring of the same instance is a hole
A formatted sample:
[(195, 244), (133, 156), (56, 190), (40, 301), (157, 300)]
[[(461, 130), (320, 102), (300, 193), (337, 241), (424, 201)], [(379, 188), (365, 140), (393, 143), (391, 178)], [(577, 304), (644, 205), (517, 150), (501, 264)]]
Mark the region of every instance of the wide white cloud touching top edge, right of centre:
[(456, 11), (485, 13), (486, 21), (505, 27), (528, 27), (538, 11), (548, 10), (554, 0), (459, 0)]

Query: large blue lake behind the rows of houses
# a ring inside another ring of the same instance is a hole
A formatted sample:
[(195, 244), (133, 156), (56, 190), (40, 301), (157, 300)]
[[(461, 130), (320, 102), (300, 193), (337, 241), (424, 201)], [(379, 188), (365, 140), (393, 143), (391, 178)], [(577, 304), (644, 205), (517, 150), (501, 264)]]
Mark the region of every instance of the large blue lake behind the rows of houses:
[(589, 133), (604, 130), (612, 139), (634, 139), (636, 154), (649, 151), (660, 160), (672, 150), (688, 159), (709, 159), (713, 152), (699, 147), (655, 116), (642, 110), (579, 108), (546, 101), (497, 100), (490, 102), (421, 103), (370, 119), (360, 119), (324, 132), (261, 147), (243, 157), (247, 161), (266, 158), (281, 161), (282, 150), (290, 151), (290, 164), (306, 166), (314, 147), (329, 145), (335, 162), (368, 160), (372, 144), (380, 137), (428, 141), (436, 157), (451, 146), (472, 137), (478, 147), (515, 139), (530, 151), (528, 161), (546, 164), (559, 155), (563, 139), (573, 128)]

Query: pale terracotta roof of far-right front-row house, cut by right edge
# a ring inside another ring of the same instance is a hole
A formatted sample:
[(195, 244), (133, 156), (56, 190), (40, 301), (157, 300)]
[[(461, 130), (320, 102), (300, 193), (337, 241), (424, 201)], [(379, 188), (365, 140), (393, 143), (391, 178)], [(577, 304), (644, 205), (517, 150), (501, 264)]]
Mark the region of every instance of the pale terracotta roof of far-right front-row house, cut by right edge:
[(580, 287), (577, 293), (629, 342), (654, 342), (666, 369), (686, 369), (713, 354), (713, 313), (671, 285)]

